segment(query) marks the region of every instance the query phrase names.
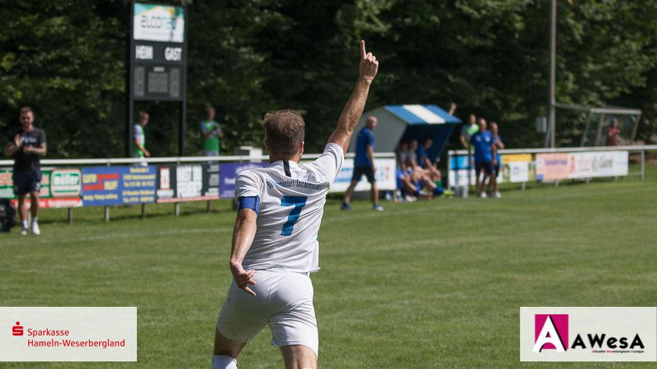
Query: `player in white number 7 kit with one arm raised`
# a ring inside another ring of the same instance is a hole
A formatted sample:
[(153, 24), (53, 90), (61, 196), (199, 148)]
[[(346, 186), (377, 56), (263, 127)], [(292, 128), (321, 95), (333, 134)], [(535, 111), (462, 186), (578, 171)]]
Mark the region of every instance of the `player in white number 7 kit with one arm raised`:
[(318, 232), (329, 186), (361, 118), (378, 61), (361, 41), (359, 78), (324, 153), (298, 165), (305, 123), (296, 111), (265, 115), (270, 166), (235, 181), (239, 202), (230, 269), (233, 282), (217, 321), (212, 368), (237, 368), (246, 343), (265, 325), (286, 368), (317, 368), (318, 331), (309, 273), (318, 266)]

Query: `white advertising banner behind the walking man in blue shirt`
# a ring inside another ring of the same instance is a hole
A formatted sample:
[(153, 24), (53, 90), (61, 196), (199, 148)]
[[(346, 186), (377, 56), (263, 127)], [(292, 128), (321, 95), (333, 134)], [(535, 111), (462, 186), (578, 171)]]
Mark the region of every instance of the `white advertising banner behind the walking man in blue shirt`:
[[(375, 159), (376, 172), (374, 179), (376, 185), (380, 190), (394, 191), (397, 187), (397, 180), (395, 177), (397, 162), (395, 159)], [(344, 192), (347, 191), (351, 183), (351, 177), (354, 174), (354, 159), (344, 159), (342, 170), (337, 174), (335, 182), (331, 184), (329, 192)], [(370, 184), (365, 176), (361, 176), (360, 182), (356, 185), (356, 191), (370, 191)]]

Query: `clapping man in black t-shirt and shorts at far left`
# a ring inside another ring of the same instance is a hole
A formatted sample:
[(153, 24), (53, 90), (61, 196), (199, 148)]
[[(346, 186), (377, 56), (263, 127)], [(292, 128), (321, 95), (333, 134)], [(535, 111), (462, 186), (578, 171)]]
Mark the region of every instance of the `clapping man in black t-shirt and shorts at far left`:
[(5, 156), (14, 157), (14, 194), (18, 197), (18, 214), (21, 215), (21, 234), (26, 235), (28, 228), (27, 204), (25, 198), (30, 195), (31, 230), (41, 234), (38, 223), (39, 191), (41, 189), (41, 156), (47, 151), (46, 134), (34, 126), (34, 111), (22, 107), (19, 115), (21, 128), (14, 131), (5, 146)]

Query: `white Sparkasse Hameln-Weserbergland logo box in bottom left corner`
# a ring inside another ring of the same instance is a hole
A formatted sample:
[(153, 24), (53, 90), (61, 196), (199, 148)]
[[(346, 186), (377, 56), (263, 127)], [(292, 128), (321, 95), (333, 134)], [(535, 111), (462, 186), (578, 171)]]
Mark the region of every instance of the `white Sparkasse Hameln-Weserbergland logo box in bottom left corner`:
[(137, 361), (137, 308), (0, 308), (0, 361)]

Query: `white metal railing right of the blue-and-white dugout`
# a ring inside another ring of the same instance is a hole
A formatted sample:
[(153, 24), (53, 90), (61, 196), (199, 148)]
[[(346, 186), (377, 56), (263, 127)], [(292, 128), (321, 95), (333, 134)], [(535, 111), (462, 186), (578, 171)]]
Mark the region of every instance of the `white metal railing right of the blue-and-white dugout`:
[[(500, 154), (550, 154), (558, 152), (592, 152), (592, 151), (627, 151), (641, 153), (641, 165), (639, 172), (628, 172), (628, 176), (641, 176), (641, 180), (645, 179), (645, 152), (657, 150), (657, 145), (641, 145), (641, 146), (595, 146), (589, 148), (525, 148), (525, 149), (504, 149), (498, 150)], [(447, 152), (447, 175), (448, 179), (450, 172), (452, 172), (452, 156), (472, 154), (471, 150), (449, 150)], [(472, 167), (472, 165), (469, 165)], [(470, 176), (467, 175), (468, 185)], [(556, 181), (558, 185), (558, 180)], [(522, 182), (522, 188), (525, 187), (525, 182)]]

